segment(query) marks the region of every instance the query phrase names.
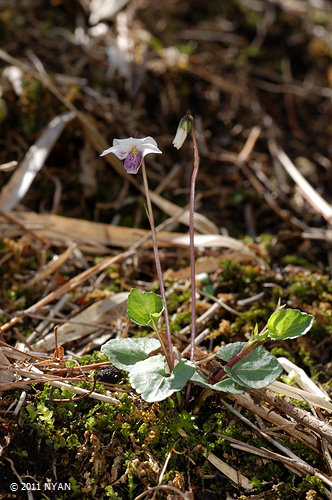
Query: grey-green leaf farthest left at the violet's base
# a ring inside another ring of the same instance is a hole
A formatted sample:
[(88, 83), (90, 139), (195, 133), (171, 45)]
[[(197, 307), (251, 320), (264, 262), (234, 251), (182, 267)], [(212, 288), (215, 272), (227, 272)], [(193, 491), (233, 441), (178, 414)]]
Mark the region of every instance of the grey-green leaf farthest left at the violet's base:
[(116, 368), (129, 371), (132, 365), (143, 361), (159, 347), (158, 339), (111, 339), (102, 346), (101, 351)]

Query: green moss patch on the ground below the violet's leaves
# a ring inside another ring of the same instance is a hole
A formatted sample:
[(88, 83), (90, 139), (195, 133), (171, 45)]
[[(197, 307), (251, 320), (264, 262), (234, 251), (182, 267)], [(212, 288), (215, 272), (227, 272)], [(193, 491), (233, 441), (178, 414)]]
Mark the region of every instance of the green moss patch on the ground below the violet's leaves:
[[(86, 357), (84, 363), (88, 359), (95, 362), (94, 356), (90, 356)], [(226, 454), (235, 468), (243, 467), (242, 455), (234, 453), (230, 443), (222, 437), (216, 437), (215, 433), (243, 440), (243, 432), (246, 429), (234, 423), (232, 415), (224, 411), (216, 401), (213, 402), (213, 396), (211, 404), (203, 406), (203, 411), (195, 416), (187, 410), (179, 412), (174, 405), (170, 405), (170, 401), (173, 400), (149, 405), (139, 399), (133, 400), (127, 393), (116, 395), (120, 401), (118, 405), (91, 398), (63, 403), (51, 400), (51, 398), (68, 397), (73, 396), (66, 389), (54, 389), (47, 385), (43, 388), (38, 399), (30, 402), (29, 409), (25, 413), (23, 432), (26, 441), (17, 443), (16, 453), (19, 460), (26, 460), (25, 451), (34, 443), (36, 449), (43, 450), (48, 463), (56, 460), (58, 473), (65, 476), (65, 479), (68, 476), (76, 481), (77, 494), (80, 494), (81, 498), (84, 498), (81, 490), (85, 487), (87, 477), (95, 484), (96, 495), (101, 499), (129, 499), (139, 494), (142, 491), (142, 484), (135, 457), (137, 450), (142, 449), (142, 446), (159, 464), (165, 462), (172, 448), (177, 451), (190, 450), (190, 457), (200, 470), (202, 485), (203, 476), (209, 477), (211, 474), (211, 465), (202, 455), (202, 446), (221, 458)], [(185, 436), (183, 431), (186, 433)], [(254, 437), (252, 442), (256, 446), (269, 448), (263, 439)], [(288, 441), (285, 444), (290, 447)], [(294, 443), (293, 446), (294, 452), (313, 466), (320, 464), (319, 457), (311, 450), (306, 450), (304, 445), (301, 445), (301, 448)], [(96, 469), (91, 463), (91, 454), (94, 454), (94, 463), (102, 463), (105, 453), (110, 467), (114, 457), (120, 457), (119, 476), (126, 468), (129, 469), (130, 478), (125, 483), (117, 483), (110, 488), (105, 476), (110, 468)], [(82, 460), (85, 463), (85, 478), (82, 478), (80, 472), (79, 464)], [(185, 470), (187, 464), (187, 454), (172, 453), (164, 481), (171, 481), (178, 471)], [(252, 471), (256, 478), (257, 490), (264, 489), (265, 481), (283, 481), (290, 477), (282, 465), (273, 462), (263, 466), (257, 457), (252, 455), (245, 457), (244, 470), (247, 471), (247, 475), (248, 471)], [(40, 470), (38, 473), (43, 474), (45, 471)], [(150, 477), (150, 484), (155, 484), (156, 477), (156, 475), (153, 479)], [(197, 476), (195, 481), (199, 484)], [(219, 497), (226, 494), (229, 488), (233, 488), (231, 482), (217, 483), (215, 479), (204, 480), (204, 486), (217, 492)], [(294, 494), (291, 483), (283, 491), (286, 489)]]

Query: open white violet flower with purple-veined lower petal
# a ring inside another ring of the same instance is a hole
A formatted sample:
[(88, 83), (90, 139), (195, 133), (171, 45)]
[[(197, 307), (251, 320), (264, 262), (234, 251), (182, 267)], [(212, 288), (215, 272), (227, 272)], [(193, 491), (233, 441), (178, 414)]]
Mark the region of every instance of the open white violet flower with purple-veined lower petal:
[(114, 139), (113, 146), (105, 149), (100, 156), (105, 156), (108, 153), (113, 153), (119, 158), (124, 160), (124, 167), (128, 174), (137, 174), (142, 160), (145, 155), (150, 153), (160, 153), (160, 149), (153, 137), (144, 137), (143, 139)]

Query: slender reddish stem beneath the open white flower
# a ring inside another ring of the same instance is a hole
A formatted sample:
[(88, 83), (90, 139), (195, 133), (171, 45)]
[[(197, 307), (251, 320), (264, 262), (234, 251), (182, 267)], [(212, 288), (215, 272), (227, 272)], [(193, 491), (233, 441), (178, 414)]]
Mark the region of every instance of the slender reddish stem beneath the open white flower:
[(165, 304), (164, 317), (165, 317), (167, 343), (168, 343), (168, 356), (166, 356), (166, 359), (167, 359), (167, 363), (168, 363), (170, 371), (173, 371), (174, 352), (173, 352), (171, 327), (170, 327), (168, 310), (167, 310), (167, 302), (166, 302), (166, 293), (165, 293), (165, 287), (164, 287), (163, 273), (161, 270), (161, 264), (160, 264), (160, 258), (159, 258), (159, 253), (158, 253), (158, 246), (157, 246), (157, 233), (156, 233), (156, 228), (155, 228), (155, 224), (154, 224), (153, 210), (152, 210), (152, 205), (151, 205), (148, 178), (146, 175), (144, 158), (142, 160), (142, 174), (143, 174), (146, 203), (147, 203), (147, 207), (148, 207), (148, 218), (149, 218), (149, 222), (150, 222), (150, 226), (151, 226), (151, 236), (152, 236), (152, 243), (153, 243), (154, 260), (156, 262), (156, 269), (157, 269), (157, 275), (158, 275), (158, 280), (159, 280), (160, 293), (161, 293), (161, 297), (162, 297), (164, 304)]

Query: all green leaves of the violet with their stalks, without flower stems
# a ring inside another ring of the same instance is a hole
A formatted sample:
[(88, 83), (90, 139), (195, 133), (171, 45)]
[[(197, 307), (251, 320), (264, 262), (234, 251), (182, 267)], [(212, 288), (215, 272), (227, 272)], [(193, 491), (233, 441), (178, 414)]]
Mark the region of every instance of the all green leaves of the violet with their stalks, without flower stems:
[[(133, 289), (128, 298), (128, 316), (137, 324), (150, 326), (157, 332), (156, 318), (162, 309), (156, 310), (151, 301), (160, 304), (161, 298), (153, 292)], [(159, 300), (158, 300), (159, 299)], [(143, 305), (143, 307), (142, 307)], [(151, 309), (148, 312), (148, 308)], [(145, 320), (142, 318), (145, 311)], [(261, 389), (271, 384), (282, 372), (277, 359), (262, 348), (267, 339), (286, 340), (300, 337), (310, 329), (313, 317), (297, 309), (278, 308), (269, 318), (261, 332), (257, 329), (248, 342), (234, 342), (219, 349), (216, 357), (226, 364), (207, 381), (198, 371), (194, 362), (181, 359), (172, 371), (165, 355), (151, 353), (160, 348), (165, 350), (161, 337), (111, 339), (102, 347), (102, 352), (111, 363), (129, 373), (129, 381), (134, 389), (148, 402), (161, 401), (174, 392), (181, 391), (187, 382), (204, 389), (240, 394), (247, 389)], [(144, 321), (144, 322), (143, 322)]]

